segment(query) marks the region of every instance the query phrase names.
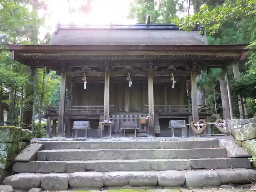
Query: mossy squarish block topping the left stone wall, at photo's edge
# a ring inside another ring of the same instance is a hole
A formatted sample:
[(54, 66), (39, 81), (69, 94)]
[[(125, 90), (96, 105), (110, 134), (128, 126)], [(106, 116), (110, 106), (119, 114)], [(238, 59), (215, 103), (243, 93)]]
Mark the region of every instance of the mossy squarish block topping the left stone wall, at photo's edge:
[(21, 128), (14, 126), (0, 126), (0, 142), (19, 142), (21, 139)]

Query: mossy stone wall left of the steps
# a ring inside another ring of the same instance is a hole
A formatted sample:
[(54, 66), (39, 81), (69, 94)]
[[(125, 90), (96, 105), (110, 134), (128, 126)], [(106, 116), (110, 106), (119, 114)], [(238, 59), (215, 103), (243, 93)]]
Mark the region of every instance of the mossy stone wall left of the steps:
[(0, 184), (11, 174), (14, 157), (32, 139), (31, 131), (14, 126), (0, 126)]

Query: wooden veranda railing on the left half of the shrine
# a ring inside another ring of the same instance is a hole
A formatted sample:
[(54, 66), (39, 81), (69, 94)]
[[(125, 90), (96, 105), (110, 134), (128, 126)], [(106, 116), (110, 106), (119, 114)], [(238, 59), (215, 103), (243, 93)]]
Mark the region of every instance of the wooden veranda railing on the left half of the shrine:
[[(109, 110), (113, 109), (114, 105), (109, 106)], [(59, 114), (59, 106), (47, 106), (45, 109), (46, 115)], [(74, 105), (65, 107), (65, 115), (88, 115), (88, 114), (103, 114), (104, 106), (103, 105)]]

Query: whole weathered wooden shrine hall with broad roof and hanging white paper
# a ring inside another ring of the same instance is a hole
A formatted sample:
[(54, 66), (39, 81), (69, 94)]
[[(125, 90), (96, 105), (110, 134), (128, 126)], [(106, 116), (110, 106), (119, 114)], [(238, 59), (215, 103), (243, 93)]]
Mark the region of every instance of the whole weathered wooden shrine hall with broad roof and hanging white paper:
[[(196, 76), (240, 60), (245, 45), (207, 45), (197, 28), (174, 25), (58, 25), (50, 45), (7, 49), (31, 69), (61, 77), (60, 105), (45, 112), (46, 137), (144, 137), (194, 136), (187, 124), (212, 115), (197, 104)], [(171, 120), (183, 127), (173, 131)], [(86, 129), (75, 129), (84, 122)]]

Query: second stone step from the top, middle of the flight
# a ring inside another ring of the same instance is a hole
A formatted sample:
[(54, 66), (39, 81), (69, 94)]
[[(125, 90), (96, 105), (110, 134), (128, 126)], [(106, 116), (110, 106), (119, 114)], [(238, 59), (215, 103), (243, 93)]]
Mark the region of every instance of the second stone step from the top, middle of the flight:
[(111, 159), (201, 159), (227, 157), (226, 148), (201, 149), (64, 149), (37, 152), (38, 161), (88, 161)]

